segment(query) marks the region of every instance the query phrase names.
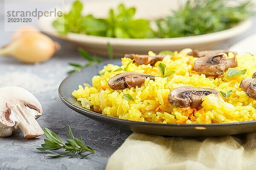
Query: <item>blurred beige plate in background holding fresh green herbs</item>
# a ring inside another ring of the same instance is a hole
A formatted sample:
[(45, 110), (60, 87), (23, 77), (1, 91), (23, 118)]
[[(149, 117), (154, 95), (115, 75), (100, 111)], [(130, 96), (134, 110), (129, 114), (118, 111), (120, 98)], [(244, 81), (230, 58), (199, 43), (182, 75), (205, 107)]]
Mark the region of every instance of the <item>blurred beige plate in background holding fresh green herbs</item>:
[[(177, 3), (178, 1), (175, 0), (159, 0), (157, 3), (155, 0), (129, 0), (125, 2), (122, 0), (93, 0), (83, 1), (83, 13), (93, 14), (96, 17), (106, 17), (108, 15), (109, 8), (116, 8), (120, 2), (124, 3), (126, 6), (135, 6), (137, 8), (137, 14), (135, 17), (149, 18), (151, 20), (169, 15), (171, 14), (172, 9), (177, 9), (179, 6)], [(68, 11), (68, 8), (69, 7), (66, 7), (65, 11)], [(113, 47), (114, 55), (119, 57), (123, 57), (124, 54), (128, 53), (147, 54), (147, 51), (149, 50), (159, 52), (162, 50), (181, 50), (183, 48), (198, 50), (209, 49), (223, 40), (243, 33), (252, 25), (251, 20), (246, 20), (233, 28), (211, 34), (162, 39), (124, 39), (97, 37), (75, 33), (61, 36), (52, 27), (53, 20), (55, 20), (55, 17), (42, 17), (39, 20), (41, 30), (54, 37), (73, 42), (77, 46), (83, 47), (85, 50), (93, 54), (106, 56), (108, 54), (107, 43), (110, 42)]]

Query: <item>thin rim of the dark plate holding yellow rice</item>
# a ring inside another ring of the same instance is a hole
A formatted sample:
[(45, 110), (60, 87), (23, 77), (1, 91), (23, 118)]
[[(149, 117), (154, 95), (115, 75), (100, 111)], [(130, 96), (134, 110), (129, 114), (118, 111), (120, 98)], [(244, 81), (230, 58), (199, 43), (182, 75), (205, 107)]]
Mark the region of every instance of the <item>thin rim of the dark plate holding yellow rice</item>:
[[(96, 66), (104, 66), (106, 64), (111, 64), (113, 62), (117, 62), (119, 61), (120, 59), (113, 59), (113, 60), (107, 60), (105, 62), (102, 62), (102, 63), (99, 63), (99, 64), (96, 64), (96, 65), (91, 65), (87, 68), (83, 68), (81, 69), (80, 71), (76, 71), (70, 75), (68, 75), (65, 79), (63, 79), (58, 87), (58, 95), (59, 95), (59, 98), (61, 99), (61, 101), (67, 105), (70, 109), (72, 109), (73, 111), (76, 111), (77, 113), (79, 113), (78, 111), (80, 111), (81, 113), (79, 114), (82, 114), (83, 112), (87, 113), (87, 114), (93, 114), (93, 115), (96, 115), (96, 116), (99, 116), (103, 119), (107, 119), (109, 121), (114, 121), (114, 122), (125, 122), (125, 123), (128, 123), (130, 125), (132, 124), (140, 124), (141, 126), (143, 125), (150, 125), (150, 126), (169, 126), (169, 127), (212, 127), (212, 126), (236, 126), (236, 125), (245, 125), (245, 124), (255, 124), (256, 123), (256, 120), (250, 120), (250, 121), (244, 121), (244, 122), (233, 122), (233, 123), (214, 123), (214, 124), (172, 124), (172, 123), (156, 123), (156, 122), (139, 122), (139, 121), (133, 121), (133, 120), (126, 120), (126, 119), (120, 119), (120, 118), (116, 118), (116, 117), (111, 117), (111, 116), (107, 116), (107, 115), (103, 115), (101, 113), (97, 113), (97, 112), (93, 112), (93, 111), (90, 111), (89, 109), (86, 109), (86, 108), (79, 108), (79, 107), (76, 107), (75, 105), (73, 105), (71, 102), (69, 102), (66, 97), (63, 97), (62, 96), (62, 92), (61, 92), (61, 88), (63, 87), (64, 83), (68, 81), (68, 79), (71, 77), (71, 76), (75, 76), (76, 74), (81, 74), (81, 71), (82, 70), (87, 70), (87, 69), (90, 69), (92, 67), (96, 67)], [(74, 89), (75, 90), (75, 89)], [(72, 96), (72, 94), (68, 94), (70, 96)], [(73, 97), (73, 96), (72, 96)], [(73, 97), (74, 98), (74, 97)], [(74, 98), (75, 99), (75, 98)], [(75, 109), (75, 110), (74, 110)], [(85, 114), (82, 114), (84, 116), (86, 116)], [(91, 119), (91, 118), (90, 118)]]

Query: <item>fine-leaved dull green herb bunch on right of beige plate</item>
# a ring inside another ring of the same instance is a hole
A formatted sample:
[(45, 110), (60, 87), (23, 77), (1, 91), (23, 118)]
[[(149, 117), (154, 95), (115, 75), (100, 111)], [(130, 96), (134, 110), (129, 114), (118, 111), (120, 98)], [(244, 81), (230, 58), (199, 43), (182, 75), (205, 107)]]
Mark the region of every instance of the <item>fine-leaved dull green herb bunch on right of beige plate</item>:
[[(207, 34), (235, 26), (254, 14), (250, 1), (229, 6), (231, 0), (188, 0), (172, 11), (172, 16), (157, 20), (158, 37), (185, 37)], [(235, 2), (235, 1), (233, 1)]]

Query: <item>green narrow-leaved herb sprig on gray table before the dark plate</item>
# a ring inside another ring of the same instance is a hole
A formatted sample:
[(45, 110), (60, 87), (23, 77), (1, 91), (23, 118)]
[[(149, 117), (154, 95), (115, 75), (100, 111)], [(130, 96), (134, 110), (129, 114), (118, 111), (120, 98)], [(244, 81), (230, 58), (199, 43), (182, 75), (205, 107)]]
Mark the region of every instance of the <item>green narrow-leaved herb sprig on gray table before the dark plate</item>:
[[(71, 139), (66, 139), (67, 143), (63, 143), (61, 141), (61, 138), (48, 128), (44, 128), (44, 133), (47, 139), (44, 139), (44, 144), (41, 144), (41, 147), (36, 148), (37, 150), (59, 150), (59, 149), (64, 149), (65, 152), (54, 155), (54, 156), (49, 156), (52, 158), (57, 158), (66, 154), (72, 154), (69, 158), (74, 158), (76, 156), (81, 156), (81, 159), (85, 158), (86, 156), (95, 153), (95, 150), (93, 148), (84, 145), (82, 141), (82, 137), (80, 136), (80, 139), (76, 139), (72, 133), (72, 130), (70, 128), (70, 125), (67, 125), (68, 128), (68, 133), (70, 135)], [(87, 153), (87, 154), (83, 154)]]

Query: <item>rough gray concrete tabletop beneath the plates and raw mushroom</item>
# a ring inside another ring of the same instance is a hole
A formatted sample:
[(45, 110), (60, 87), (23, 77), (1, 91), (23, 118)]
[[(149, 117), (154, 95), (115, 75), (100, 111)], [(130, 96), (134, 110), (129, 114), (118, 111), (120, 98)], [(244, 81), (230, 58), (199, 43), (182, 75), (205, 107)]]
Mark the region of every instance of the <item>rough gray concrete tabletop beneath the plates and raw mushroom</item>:
[[(2, 7), (3, 1), (0, 1), (0, 9)], [(4, 31), (3, 10), (0, 11), (2, 11), (0, 12), (0, 46), (3, 46), (9, 42), (12, 32)], [(253, 23), (253, 27), (249, 31), (221, 43), (215, 49), (229, 48), (250, 34), (256, 33), (255, 19)], [(44, 79), (54, 80), (57, 87), (61, 80), (67, 76), (66, 72), (70, 69), (68, 62), (84, 62), (72, 44), (61, 40), (57, 41), (62, 46), (61, 51), (58, 51), (55, 57), (48, 62), (42, 64), (25, 65), (9, 57), (0, 57), (0, 74), (29, 69)], [(49, 74), (52, 76), (49, 77)], [(50, 152), (42, 153), (35, 150), (35, 147), (39, 147), (44, 142), (45, 136), (26, 140), (23, 139), (21, 133), (17, 133), (11, 137), (0, 138), (0, 170), (102, 170), (111, 154), (131, 134), (129, 131), (104, 125), (70, 110), (58, 98), (57, 88), (35, 94), (35, 96), (44, 108), (44, 115), (38, 119), (41, 127), (48, 127), (64, 139), (68, 136), (65, 127), (69, 124), (74, 135), (76, 137), (81, 135), (84, 143), (92, 146), (96, 153), (88, 156), (87, 159), (68, 159), (68, 157), (51, 159), (48, 157)]]

